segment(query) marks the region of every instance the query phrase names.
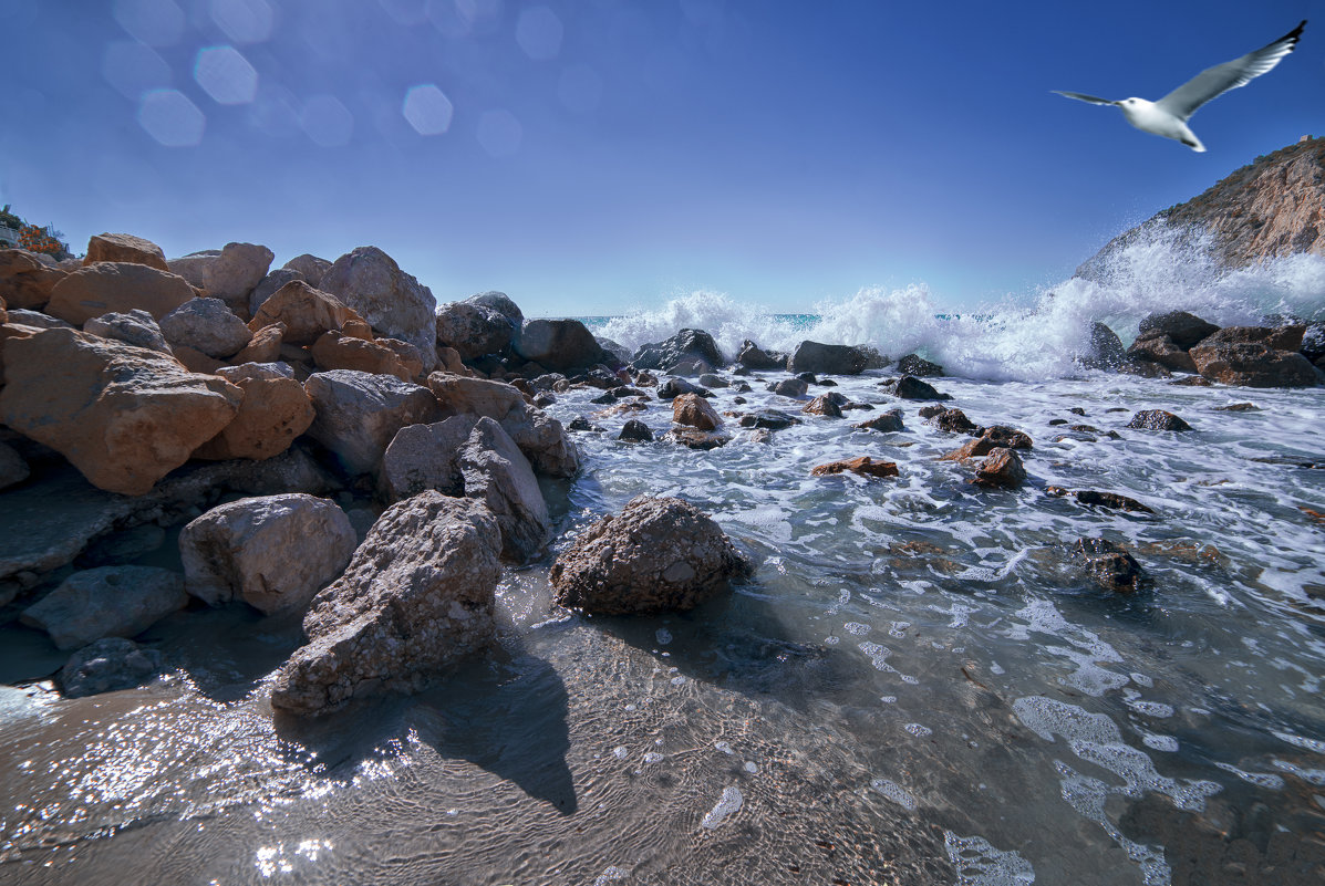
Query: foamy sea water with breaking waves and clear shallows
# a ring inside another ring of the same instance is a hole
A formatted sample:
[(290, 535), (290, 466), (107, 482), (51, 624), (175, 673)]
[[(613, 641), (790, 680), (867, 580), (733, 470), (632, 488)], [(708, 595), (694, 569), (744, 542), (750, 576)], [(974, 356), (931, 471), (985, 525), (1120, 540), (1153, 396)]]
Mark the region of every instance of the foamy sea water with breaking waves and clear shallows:
[[(729, 356), (743, 339), (920, 352), (945, 366), (947, 405), (1034, 438), (1026, 486), (982, 490), (939, 461), (967, 438), (892, 399), (886, 369), (811, 387), (873, 407), (845, 420), (766, 391), (784, 373), (714, 388), (719, 412), (803, 422), (757, 442), (729, 417), (710, 452), (616, 440), (627, 418), (661, 436), (665, 401), (558, 395), (555, 417), (602, 429), (576, 434), (578, 479), (545, 483), (559, 538), (504, 577), (500, 644), (429, 693), (273, 719), (298, 625), (233, 608), (152, 629), (164, 679), (62, 699), (44, 638), (4, 628), (0, 879), (1318, 882), (1325, 479), (1308, 465), (1325, 461), (1325, 388), (1174, 387), (1075, 358), (1090, 322), (1126, 342), (1155, 310), (1320, 319), (1325, 262), (1220, 274), (1159, 240), (1106, 279), (1006, 305), (958, 311), (916, 286), (807, 307), (700, 293), (602, 334), (633, 348), (698, 327)], [(851, 426), (890, 408), (898, 433)], [(1151, 408), (1194, 430), (1126, 428)], [(811, 474), (863, 454), (898, 477)], [(754, 577), (689, 613), (558, 609), (551, 558), (640, 494), (712, 514)], [(1129, 550), (1146, 587), (1096, 585), (1079, 538)]]

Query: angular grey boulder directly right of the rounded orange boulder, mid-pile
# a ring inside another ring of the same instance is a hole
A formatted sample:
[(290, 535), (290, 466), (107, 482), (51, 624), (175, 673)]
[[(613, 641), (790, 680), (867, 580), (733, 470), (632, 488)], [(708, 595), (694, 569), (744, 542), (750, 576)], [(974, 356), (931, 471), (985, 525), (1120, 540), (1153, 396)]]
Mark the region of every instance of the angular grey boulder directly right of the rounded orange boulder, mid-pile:
[(351, 474), (375, 471), (387, 444), (405, 425), (441, 417), (428, 388), (390, 375), (315, 372), (303, 389), (317, 411), (309, 436), (335, 453)]

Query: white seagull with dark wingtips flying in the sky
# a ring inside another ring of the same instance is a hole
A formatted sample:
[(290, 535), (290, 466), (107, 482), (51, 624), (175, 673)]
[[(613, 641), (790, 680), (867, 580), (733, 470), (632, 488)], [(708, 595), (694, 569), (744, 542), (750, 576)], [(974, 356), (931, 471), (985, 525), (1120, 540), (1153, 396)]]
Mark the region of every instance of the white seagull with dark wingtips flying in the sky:
[(1196, 113), (1196, 109), (1219, 98), (1230, 89), (1246, 86), (1256, 77), (1272, 70), (1284, 56), (1293, 52), (1305, 26), (1306, 20), (1304, 19), (1301, 24), (1268, 46), (1226, 61), (1223, 65), (1207, 68), (1158, 102), (1147, 102), (1143, 98), (1124, 98), (1114, 102), (1083, 93), (1064, 93), (1057, 89), (1052, 91), (1092, 105), (1114, 105), (1128, 118), (1128, 122), (1142, 132), (1182, 142), (1199, 154), (1206, 150), (1206, 146), (1187, 126), (1187, 121)]

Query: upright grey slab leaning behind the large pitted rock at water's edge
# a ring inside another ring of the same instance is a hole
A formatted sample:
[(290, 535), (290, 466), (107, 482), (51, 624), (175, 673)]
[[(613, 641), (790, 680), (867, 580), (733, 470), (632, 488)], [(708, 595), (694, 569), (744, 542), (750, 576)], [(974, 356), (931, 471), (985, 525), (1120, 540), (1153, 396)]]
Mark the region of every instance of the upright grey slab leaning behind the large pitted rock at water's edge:
[(501, 528), (502, 556), (523, 563), (534, 556), (551, 530), (538, 479), (515, 442), (492, 418), (474, 422), (456, 453), (465, 498), (488, 507)]

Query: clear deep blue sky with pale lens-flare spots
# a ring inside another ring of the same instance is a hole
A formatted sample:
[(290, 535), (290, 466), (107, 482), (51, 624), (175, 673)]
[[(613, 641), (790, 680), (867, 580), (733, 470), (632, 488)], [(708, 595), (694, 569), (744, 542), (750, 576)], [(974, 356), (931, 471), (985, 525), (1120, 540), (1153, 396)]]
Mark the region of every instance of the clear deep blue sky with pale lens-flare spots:
[[(1308, 24), (1191, 121), (1157, 99)], [(0, 0), (0, 204), (167, 256), (378, 245), (530, 315), (1028, 293), (1302, 134), (1325, 0)]]

